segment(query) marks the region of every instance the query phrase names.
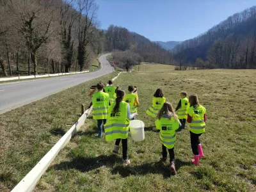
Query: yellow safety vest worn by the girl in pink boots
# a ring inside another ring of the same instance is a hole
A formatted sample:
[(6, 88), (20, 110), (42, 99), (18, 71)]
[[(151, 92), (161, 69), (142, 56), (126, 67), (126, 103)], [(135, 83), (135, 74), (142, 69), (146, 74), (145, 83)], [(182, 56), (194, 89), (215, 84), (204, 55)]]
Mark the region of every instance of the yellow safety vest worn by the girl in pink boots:
[(188, 115), (192, 117), (191, 123), (189, 123), (189, 131), (200, 134), (205, 132), (205, 122), (204, 115), (206, 113), (206, 109), (203, 106), (194, 106), (188, 109)]

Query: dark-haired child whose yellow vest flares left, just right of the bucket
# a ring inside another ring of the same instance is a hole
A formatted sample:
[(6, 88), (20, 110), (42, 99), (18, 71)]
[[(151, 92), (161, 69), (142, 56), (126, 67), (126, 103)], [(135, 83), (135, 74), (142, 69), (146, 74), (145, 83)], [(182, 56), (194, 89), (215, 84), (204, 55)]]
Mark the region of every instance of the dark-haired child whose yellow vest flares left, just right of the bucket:
[(164, 102), (165, 102), (164, 93), (161, 90), (161, 88), (158, 88), (156, 90), (156, 93), (154, 93), (154, 97), (152, 100), (152, 106), (147, 110), (147, 115), (156, 117), (159, 110), (162, 108)]

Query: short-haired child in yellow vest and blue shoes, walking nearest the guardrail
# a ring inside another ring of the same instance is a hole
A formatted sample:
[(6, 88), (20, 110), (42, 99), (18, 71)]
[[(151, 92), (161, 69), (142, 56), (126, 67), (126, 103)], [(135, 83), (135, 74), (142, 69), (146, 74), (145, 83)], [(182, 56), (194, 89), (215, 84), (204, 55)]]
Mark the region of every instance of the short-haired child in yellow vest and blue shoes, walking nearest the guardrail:
[(97, 120), (98, 124), (98, 138), (102, 137), (103, 125), (106, 123), (107, 111), (109, 106), (109, 96), (108, 93), (104, 93), (104, 84), (97, 84), (97, 93), (92, 96), (92, 106), (93, 106), (93, 119)]

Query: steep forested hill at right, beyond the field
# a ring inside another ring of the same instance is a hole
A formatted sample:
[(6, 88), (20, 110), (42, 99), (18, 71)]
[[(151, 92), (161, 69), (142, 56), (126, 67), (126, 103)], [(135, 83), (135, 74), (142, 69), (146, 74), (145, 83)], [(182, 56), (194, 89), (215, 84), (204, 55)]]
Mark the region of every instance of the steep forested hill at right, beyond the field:
[(202, 58), (217, 67), (252, 68), (256, 51), (256, 6), (228, 17), (202, 35), (175, 47), (176, 58)]

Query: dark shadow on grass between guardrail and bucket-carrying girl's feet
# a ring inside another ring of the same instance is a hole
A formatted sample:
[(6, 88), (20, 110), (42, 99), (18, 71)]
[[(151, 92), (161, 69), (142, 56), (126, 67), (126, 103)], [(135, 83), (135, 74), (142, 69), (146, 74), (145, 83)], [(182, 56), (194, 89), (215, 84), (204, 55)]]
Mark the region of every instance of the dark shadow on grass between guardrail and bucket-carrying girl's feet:
[(115, 155), (111, 156), (98, 156), (98, 157), (76, 157), (72, 161), (61, 162), (53, 166), (56, 170), (68, 170), (76, 169), (81, 172), (89, 172), (100, 168), (101, 166), (112, 167), (115, 163), (122, 162), (122, 158), (116, 157)]

